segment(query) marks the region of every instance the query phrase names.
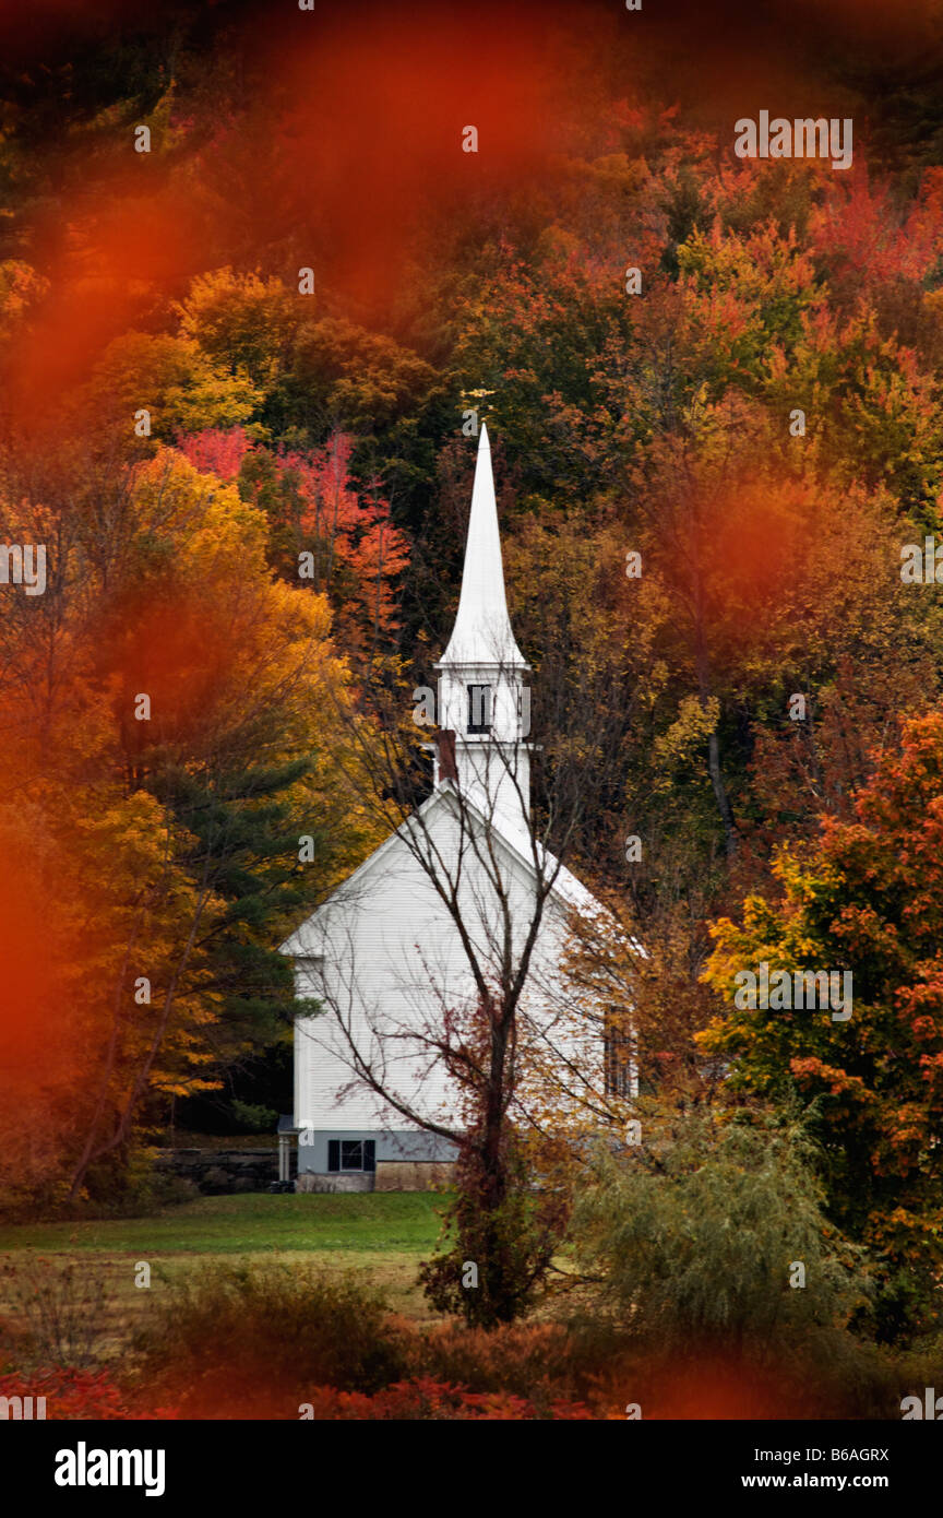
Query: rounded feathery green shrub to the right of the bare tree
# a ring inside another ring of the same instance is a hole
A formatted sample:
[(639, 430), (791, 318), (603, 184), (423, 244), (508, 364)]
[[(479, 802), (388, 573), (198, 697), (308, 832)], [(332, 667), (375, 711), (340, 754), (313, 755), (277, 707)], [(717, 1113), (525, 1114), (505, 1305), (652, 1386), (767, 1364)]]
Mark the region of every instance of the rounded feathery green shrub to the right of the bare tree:
[(602, 1305), (637, 1340), (781, 1356), (867, 1301), (863, 1254), (826, 1222), (796, 1129), (687, 1116), (649, 1135), (597, 1154), (572, 1222)]

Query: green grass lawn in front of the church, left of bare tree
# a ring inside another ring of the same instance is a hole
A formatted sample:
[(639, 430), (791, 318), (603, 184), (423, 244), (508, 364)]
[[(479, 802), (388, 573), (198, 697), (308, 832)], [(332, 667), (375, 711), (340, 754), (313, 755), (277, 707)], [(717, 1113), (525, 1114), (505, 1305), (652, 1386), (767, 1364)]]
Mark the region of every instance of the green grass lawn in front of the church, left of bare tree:
[[(443, 1204), (444, 1198), (431, 1192), (202, 1196), (153, 1217), (6, 1225), (0, 1228), (0, 1263), (24, 1274), (30, 1255), (38, 1255), (53, 1266), (71, 1260), (100, 1269), (111, 1301), (106, 1353), (118, 1356), (167, 1280), (232, 1255), (353, 1271), (382, 1286), (394, 1312), (429, 1321), (434, 1315), (415, 1274), (435, 1248)], [(139, 1260), (152, 1268), (149, 1290), (135, 1286)], [(0, 1280), (0, 1330), (3, 1319), (11, 1319), (11, 1305)]]

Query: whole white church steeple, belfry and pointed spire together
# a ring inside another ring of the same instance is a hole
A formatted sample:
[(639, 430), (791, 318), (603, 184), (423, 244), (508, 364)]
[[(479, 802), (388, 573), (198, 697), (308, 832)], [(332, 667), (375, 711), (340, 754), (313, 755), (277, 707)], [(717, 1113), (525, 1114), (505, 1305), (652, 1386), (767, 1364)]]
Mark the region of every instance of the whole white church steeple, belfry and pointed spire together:
[[(449, 647), (440, 663), (440, 726), (455, 733), (455, 776), (488, 818), (526, 826), (531, 809), (529, 671), (511, 628), (500, 556), (488, 430), (482, 425), (472, 489), (462, 586)], [(437, 762), (435, 783), (452, 771)]]

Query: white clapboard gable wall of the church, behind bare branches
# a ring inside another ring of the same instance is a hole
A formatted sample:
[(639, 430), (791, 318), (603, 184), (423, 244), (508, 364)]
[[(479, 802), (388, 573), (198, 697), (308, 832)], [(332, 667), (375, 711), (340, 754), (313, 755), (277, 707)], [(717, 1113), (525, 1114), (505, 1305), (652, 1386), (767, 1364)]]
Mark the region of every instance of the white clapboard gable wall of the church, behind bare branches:
[[(443, 858), (456, 861), (458, 808), (449, 788), (440, 786), (421, 814)], [(478, 826), (484, 829), (484, 820)], [(534, 867), (518, 847), (502, 839), (499, 861), (520, 944), (534, 912)], [(541, 1011), (541, 987), (556, 975), (565, 935), (562, 908), (573, 905), (564, 888), (572, 879), (564, 876), (547, 906), (525, 1002), (532, 1017), (553, 1017), (550, 1008)], [(490, 962), (487, 924), (494, 935), (500, 917), (470, 846), (462, 861), (462, 915), (482, 961)], [(344, 1029), (382, 1075), (384, 1088), (429, 1117), (459, 1122), (456, 1091), (446, 1072), (421, 1041), (409, 1040), (409, 1031), (440, 1026), (447, 1006), (472, 1006), (475, 981), (455, 923), (400, 836), (387, 839), (285, 950), (296, 956), (299, 996), (320, 996), (326, 1005), (320, 1016), (296, 1026), (299, 1126), (402, 1126), (402, 1114), (358, 1078)]]

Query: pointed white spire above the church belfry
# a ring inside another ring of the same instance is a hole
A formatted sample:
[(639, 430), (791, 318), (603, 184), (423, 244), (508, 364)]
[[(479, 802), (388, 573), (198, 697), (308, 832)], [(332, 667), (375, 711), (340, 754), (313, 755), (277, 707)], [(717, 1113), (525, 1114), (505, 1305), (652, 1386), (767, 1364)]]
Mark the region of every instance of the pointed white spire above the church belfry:
[(523, 669), (529, 668), (514, 641), (508, 616), (500, 533), (497, 530), (497, 501), (494, 499), (494, 475), (491, 474), (491, 446), (484, 422), (478, 440), (462, 589), (452, 638), (438, 668), (443, 665), (502, 665), (503, 668), (517, 665)]

